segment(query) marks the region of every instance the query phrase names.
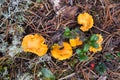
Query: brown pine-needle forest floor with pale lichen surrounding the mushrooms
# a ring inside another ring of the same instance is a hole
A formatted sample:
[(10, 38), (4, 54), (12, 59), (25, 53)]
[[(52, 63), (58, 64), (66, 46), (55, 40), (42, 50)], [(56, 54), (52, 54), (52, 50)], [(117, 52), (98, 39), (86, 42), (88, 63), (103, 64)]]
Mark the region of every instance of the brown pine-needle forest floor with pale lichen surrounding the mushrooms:
[[(94, 20), (86, 32), (77, 23), (84, 12)], [(68, 41), (62, 36), (66, 28), (79, 29), (84, 39), (101, 34), (102, 51), (88, 52), (90, 59), (79, 61), (74, 48), (71, 58), (55, 59), (51, 46)], [(44, 36), (49, 48), (42, 57), (21, 48), (23, 37), (35, 33)], [(1, 0), (0, 80), (42, 79), (120, 80), (120, 0)]]

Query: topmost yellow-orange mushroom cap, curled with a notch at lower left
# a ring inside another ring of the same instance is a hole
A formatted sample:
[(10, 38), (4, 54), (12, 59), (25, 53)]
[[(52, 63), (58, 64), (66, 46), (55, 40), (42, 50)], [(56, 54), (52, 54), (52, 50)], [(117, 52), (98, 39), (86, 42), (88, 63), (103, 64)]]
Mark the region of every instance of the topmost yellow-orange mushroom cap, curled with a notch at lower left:
[(88, 13), (79, 14), (77, 17), (77, 21), (78, 21), (78, 24), (82, 25), (80, 27), (82, 31), (88, 31), (90, 28), (92, 28), (94, 23), (92, 16)]

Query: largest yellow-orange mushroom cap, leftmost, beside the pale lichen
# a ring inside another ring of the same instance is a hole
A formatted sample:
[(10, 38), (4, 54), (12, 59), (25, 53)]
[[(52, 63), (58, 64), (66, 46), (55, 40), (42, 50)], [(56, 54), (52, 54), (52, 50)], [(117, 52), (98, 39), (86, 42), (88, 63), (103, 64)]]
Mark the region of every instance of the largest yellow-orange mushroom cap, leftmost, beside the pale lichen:
[(48, 47), (44, 44), (45, 39), (39, 34), (29, 34), (23, 38), (22, 48), (25, 52), (32, 52), (38, 56), (46, 54)]

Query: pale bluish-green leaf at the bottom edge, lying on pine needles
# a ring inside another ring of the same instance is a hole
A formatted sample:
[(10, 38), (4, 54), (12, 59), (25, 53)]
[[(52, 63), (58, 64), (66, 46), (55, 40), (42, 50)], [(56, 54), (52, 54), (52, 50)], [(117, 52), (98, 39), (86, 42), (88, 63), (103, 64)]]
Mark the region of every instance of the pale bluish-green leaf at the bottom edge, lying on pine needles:
[(41, 72), (42, 72), (44, 78), (46, 78), (47, 80), (55, 80), (55, 76), (47, 68), (42, 68)]

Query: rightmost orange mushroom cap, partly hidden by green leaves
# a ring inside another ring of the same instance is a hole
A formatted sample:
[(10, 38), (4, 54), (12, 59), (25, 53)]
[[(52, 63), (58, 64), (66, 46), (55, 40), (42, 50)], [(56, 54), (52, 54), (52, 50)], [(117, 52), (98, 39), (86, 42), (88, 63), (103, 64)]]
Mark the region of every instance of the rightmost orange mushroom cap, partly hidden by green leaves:
[(101, 34), (96, 34), (96, 36), (98, 36), (97, 43), (98, 43), (98, 45), (99, 45), (99, 48), (93, 48), (92, 46), (89, 48), (89, 51), (94, 52), (94, 53), (102, 50), (103, 37), (102, 37)]

